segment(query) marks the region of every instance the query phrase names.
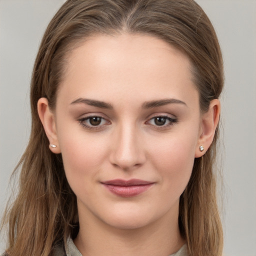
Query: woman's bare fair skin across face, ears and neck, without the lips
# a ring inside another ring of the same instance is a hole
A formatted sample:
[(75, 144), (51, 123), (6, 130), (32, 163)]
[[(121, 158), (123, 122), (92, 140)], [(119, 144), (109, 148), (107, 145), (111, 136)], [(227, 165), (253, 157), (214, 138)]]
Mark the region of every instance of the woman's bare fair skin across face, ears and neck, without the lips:
[[(56, 109), (39, 99), (40, 119), (56, 145), (50, 150), (61, 152), (77, 197), (74, 242), (83, 255), (168, 255), (185, 242), (179, 197), (194, 157), (212, 142), (220, 110), (214, 99), (200, 112), (190, 66), (183, 53), (149, 35), (94, 36), (69, 55)], [(171, 100), (152, 104), (165, 99)], [(99, 125), (90, 124), (92, 116), (101, 117)], [(166, 116), (163, 125), (157, 116)], [(102, 185), (116, 178), (153, 185), (122, 197)]]

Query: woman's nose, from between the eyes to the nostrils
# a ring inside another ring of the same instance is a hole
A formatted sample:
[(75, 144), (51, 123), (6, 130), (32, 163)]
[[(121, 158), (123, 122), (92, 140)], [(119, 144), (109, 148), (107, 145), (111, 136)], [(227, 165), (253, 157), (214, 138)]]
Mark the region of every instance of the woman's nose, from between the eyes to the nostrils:
[(111, 164), (122, 170), (130, 170), (141, 166), (145, 160), (141, 133), (131, 125), (116, 128), (111, 141)]

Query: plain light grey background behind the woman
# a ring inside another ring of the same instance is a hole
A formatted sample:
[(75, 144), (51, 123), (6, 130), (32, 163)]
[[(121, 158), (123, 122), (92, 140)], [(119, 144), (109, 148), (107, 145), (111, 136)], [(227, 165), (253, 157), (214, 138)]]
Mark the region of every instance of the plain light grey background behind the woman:
[[(30, 129), (29, 81), (40, 38), (64, 0), (0, 0), (0, 213)], [(256, 255), (256, 0), (197, 0), (219, 37), (224, 255)], [(4, 249), (0, 237), (0, 252)]]

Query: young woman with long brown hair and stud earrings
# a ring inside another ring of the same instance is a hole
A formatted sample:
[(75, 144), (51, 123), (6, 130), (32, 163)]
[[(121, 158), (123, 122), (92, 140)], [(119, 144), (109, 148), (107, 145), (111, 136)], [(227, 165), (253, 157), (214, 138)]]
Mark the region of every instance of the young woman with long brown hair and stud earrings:
[(221, 255), (222, 58), (193, 0), (67, 0), (31, 80), (8, 255)]

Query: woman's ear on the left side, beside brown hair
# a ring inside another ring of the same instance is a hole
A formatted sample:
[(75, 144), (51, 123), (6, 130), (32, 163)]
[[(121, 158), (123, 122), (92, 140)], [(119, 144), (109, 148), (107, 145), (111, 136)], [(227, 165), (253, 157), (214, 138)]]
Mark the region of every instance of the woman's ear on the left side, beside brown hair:
[[(39, 98), (39, 100), (37, 101), (37, 111), (46, 136), (49, 140), (49, 149), (53, 153), (60, 153), (61, 151), (57, 139), (55, 118), (54, 114), (49, 109), (47, 98)], [(55, 145), (55, 147), (52, 147), (51, 145)]]

